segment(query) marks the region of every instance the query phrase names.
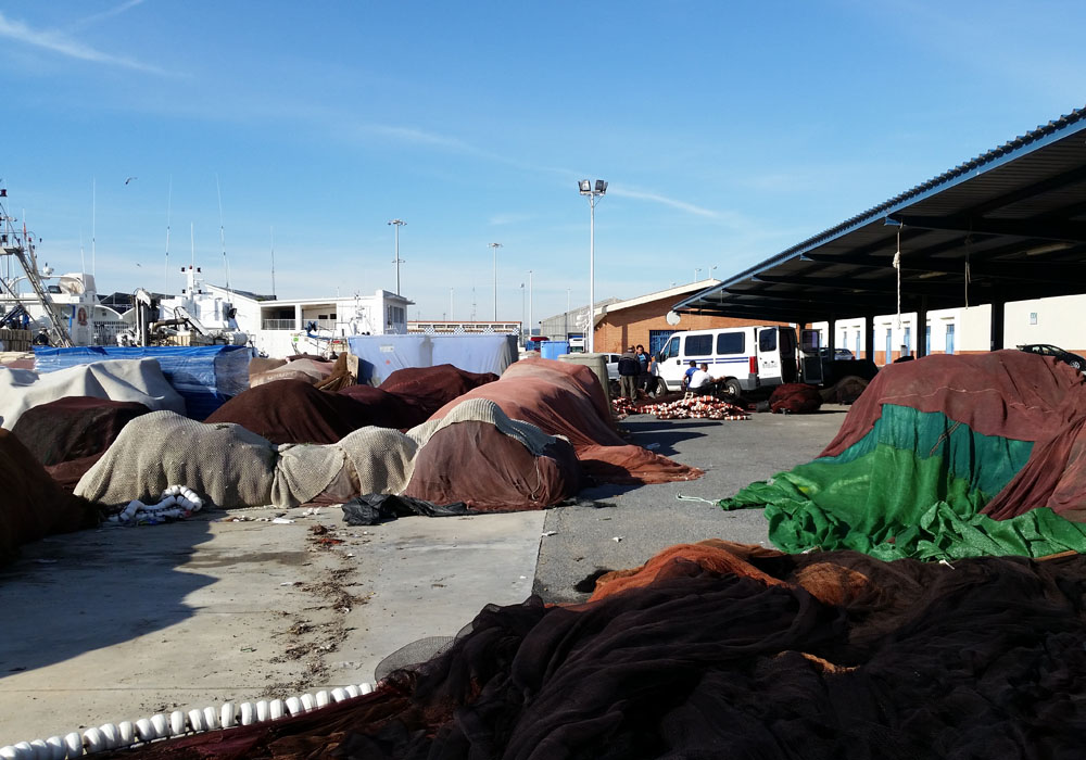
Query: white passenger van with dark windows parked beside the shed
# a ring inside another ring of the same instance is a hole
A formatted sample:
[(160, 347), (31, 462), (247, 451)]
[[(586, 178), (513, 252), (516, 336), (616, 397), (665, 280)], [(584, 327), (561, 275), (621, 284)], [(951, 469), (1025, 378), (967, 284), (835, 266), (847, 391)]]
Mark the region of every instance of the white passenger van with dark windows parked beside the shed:
[(796, 382), (796, 331), (791, 327), (724, 327), (677, 332), (653, 363), (653, 375), (678, 391), (691, 362), (709, 365), (731, 393)]

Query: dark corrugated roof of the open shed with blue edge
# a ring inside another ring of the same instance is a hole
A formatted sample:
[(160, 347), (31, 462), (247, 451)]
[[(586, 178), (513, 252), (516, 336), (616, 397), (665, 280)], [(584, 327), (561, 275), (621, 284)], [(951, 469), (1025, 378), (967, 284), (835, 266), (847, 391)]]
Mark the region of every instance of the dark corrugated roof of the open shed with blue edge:
[[(809, 322), (1086, 292), (1086, 109), (675, 304)], [(968, 289), (967, 289), (968, 271)]]

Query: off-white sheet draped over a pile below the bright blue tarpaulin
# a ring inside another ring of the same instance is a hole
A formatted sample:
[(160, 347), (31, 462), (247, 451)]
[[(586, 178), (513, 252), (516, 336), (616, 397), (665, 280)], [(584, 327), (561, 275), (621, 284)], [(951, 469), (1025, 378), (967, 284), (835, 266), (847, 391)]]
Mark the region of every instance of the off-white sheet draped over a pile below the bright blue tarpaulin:
[(185, 400), (155, 359), (110, 359), (45, 373), (0, 367), (0, 427), (11, 430), (31, 406), (66, 396), (138, 401), (152, 411), (185, 414)]

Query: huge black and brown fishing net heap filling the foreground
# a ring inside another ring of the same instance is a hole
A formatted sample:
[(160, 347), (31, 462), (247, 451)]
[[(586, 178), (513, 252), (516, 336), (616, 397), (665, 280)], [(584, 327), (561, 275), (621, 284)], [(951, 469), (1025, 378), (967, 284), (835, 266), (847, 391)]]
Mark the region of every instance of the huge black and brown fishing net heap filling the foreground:
[(1076, 758), (1086, 557), (706, 542), (586, 604), (490, 606), (371, 695), (108, 757)]

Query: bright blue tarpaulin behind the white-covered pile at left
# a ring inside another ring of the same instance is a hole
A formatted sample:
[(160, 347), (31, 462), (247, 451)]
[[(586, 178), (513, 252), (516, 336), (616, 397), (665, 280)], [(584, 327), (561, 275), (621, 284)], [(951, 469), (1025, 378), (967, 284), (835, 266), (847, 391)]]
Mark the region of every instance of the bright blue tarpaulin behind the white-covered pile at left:
[(185, 398), (193, 419), (204, 419), (227, 398), (249, 388), (252, 351), (243, 345), (35, 347), (34, 368), (53, 372), (104, 359), (143, 358), (157, 359), (162, 373)]

